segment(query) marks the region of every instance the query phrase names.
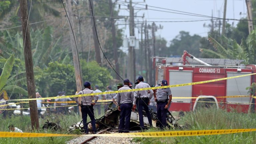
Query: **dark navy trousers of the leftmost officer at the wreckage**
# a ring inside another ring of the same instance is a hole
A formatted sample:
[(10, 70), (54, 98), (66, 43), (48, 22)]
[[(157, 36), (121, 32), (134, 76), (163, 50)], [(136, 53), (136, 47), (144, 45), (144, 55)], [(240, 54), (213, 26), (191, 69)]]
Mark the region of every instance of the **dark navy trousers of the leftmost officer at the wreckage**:
[(96, 121), (94, 118), (94, 112), (93, 112), (93, 106), (92, 105), (83, 105), (82, 108), (82, 118), (83, 118), (83, 124), (84, 124), (84, 130), (85, 133), (88, 133), (88, 126), (87, 126), (87, 114), (89, 115), (91, 121), (92, 121), (92, 130), (94, 132), (97, 132), (96, 130)]

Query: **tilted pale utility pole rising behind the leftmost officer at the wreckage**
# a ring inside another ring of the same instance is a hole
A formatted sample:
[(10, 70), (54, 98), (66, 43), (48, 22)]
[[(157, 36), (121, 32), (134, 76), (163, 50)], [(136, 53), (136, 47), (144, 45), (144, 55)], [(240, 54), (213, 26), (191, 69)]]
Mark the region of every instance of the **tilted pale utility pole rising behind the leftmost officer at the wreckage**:
[[(73, 62), (74, 62), (74, 68), (75, 68), (75, 76), (76, 76), (76, 90), (79, 92), (80, 90), (83, 89), (82, 87), (82, 79), (80, 75), (80, 68), (79, 68), (79, 60), (78, 60), (78, 54), (76, 51), (76, 44), (75, 40), (76, 39), (76, 33), (75, 33), (75, 26), (74, 26), (74, 20), (73, 20), (73, 15), (72, 15), (72, 7), (71, 7), (71, 1), (72, 0), (66, 0), (66, 6), (68, 10), (68, 18), (70, 21), (71, 26), (69, 27), (69, 36), (70, 36), (70, 44), (71, 44), (71, 50), (72, 50), (72, 56), (73, 56)], [(72, 29), (73, 32), (72, 32)], [(73, 35), (74, 33), (74, 35)], [(80, 101), (80, 97), (79, 97)]]

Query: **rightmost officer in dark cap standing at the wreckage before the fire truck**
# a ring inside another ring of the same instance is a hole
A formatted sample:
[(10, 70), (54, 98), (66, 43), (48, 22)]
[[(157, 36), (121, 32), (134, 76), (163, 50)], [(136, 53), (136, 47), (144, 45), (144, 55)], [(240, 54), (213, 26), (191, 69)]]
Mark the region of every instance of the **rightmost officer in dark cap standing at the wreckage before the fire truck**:
[[(167, 86), (167, 80), (162, 80), (161, 86)], [(160, 85), (157, 85), (160, 86)], [(157, 87), (155, 86), (155, 87)], [(168, 96), (170, 97), (168, 100)], [(167, 108), (172, 101), (172, 92), (170, 88), (158, 88), (154, 91), (155, 101), (157, 103), (157, 118), (160, 121), (160, 128), (166, 126), (166, 113)]]

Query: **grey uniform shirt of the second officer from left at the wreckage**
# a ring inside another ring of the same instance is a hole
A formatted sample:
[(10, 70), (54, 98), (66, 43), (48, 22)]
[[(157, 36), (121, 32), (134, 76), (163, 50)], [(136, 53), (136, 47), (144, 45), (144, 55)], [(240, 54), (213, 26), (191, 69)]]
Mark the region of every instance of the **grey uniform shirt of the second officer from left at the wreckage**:
[[(118, 91), (131, 89), (128, 85), (119, 88)], [(132, 103), (134, 94), (132, 91), (117, 93), (117, 104)]]

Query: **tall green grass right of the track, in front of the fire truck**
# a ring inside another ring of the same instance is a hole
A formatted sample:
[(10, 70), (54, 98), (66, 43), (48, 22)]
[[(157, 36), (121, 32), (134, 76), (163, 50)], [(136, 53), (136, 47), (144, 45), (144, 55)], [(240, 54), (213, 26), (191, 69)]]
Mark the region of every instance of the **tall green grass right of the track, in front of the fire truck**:
[[(209, 130), (209, 129), (243, 129), (256, 128), (256, 114), (227, 112), (219, 109), (200, 109), (189, 112), (179, 120), (184, 124), (183, 130)], [(158, 131), (150, 129), (148, 131)], [(134, 138), (133, 141), (141, 144), (252, 144), (256, 143), (256, 132), (235, 134), (166, 137), (166, 138)]]

